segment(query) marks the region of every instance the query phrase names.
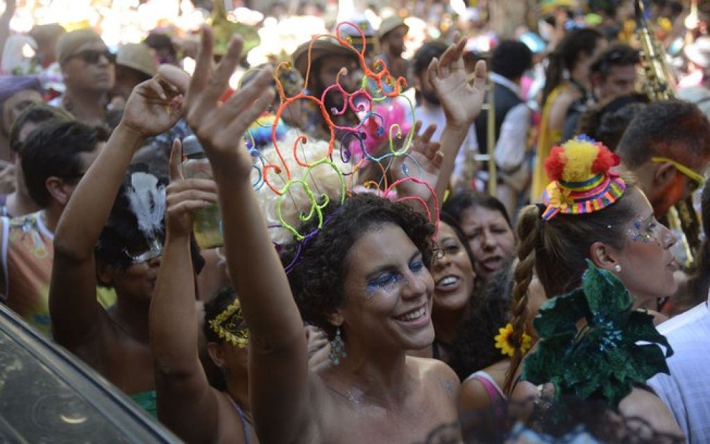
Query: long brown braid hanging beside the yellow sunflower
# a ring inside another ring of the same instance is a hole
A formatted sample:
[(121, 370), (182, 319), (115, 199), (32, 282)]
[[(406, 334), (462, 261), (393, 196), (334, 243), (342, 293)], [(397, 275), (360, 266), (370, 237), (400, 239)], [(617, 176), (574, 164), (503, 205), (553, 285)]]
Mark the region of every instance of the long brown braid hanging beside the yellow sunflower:
[[(528, 205), (520, 211), (518, 216), (518, 265), (515, 266), (515, 285), (513, 286), (513, 301), (510, 311), (513, 314), (513, 335), (510, 343), (520, 345), (523, 343), (525, 326), (528, 323), (528, 287), (535, 274), (535, 249), (540, 236), (540, 209), (535, 205)], [(515, 347), (510, 367), (506, 372), (506, 382), (503, 392), (508, 396), (513, 392), (513, 379), (515, 372), (523, 361), (523, 350)]]

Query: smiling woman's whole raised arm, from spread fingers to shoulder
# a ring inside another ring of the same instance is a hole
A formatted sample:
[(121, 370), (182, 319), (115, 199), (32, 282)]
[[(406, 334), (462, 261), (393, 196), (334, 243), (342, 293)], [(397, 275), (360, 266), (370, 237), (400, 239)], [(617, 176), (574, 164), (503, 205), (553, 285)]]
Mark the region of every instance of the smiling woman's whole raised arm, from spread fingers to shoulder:
[(227, 267), (249, 325), (249, 397), (262, 442), (301, 438), (311, 418), (307, 344), (300, 313), (251, 187), (251, 156), (244, 132), (271, 104), (271, 70), (256, 74), (229, 101), (219, 104), (241, 54), (234, 40), (212, 72), (212, 30), (185, 99), (187, 121), (204, 146), (217, 182), (224, 222)]

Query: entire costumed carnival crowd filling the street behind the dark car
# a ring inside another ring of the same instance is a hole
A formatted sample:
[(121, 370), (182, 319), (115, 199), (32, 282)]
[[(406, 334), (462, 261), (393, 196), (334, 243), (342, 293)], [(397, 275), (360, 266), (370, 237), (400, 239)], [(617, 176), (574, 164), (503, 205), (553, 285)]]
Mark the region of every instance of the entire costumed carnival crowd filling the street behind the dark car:
[(646, 2), (651, 67), (623, 1), (373, 6), (250, 64), (288, 44), (218, 8), (112, 48), (6, 3), (0, 299), (180, 439), (710, 440), (697, 11)]

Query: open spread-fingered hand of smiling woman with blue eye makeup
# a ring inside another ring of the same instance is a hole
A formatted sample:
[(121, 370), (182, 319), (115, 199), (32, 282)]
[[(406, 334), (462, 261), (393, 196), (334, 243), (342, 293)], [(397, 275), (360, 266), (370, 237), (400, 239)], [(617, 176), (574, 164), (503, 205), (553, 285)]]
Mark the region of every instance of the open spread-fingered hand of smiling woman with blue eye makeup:
[(214, 33), (212, 28), (202, 28), (202, 48), (197, 57), (195, 73), (190, 79), (183, 110), (187, 123), (204, 146), (214, 168), (222, 160), (239, 155), (239, 177), (249, 179), (251, 156), (244, 147), (244, 132), (271, 104), (275, 92), (270, 87), (271, 68), (262, 70), (246, 85), (222, 104), (219, 98), (229, 85), (241, 56), (241, 38), (232, 39), (226, 54), (217, 67), (212, 67)]

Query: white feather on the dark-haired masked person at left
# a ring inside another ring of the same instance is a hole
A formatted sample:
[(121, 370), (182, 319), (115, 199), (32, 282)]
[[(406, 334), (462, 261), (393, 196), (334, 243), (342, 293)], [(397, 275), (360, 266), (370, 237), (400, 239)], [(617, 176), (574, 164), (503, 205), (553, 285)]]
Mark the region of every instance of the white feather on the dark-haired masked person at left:
[(138, 219), (138, 228), (147, 239), (163, 231), (165, 217), (165, 186), (158, 186), (158, 177), (145, 172), (131, 174), (131, 187), (126, 190), (131, 211)]

